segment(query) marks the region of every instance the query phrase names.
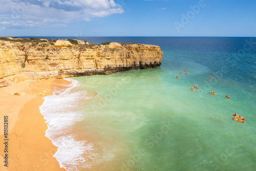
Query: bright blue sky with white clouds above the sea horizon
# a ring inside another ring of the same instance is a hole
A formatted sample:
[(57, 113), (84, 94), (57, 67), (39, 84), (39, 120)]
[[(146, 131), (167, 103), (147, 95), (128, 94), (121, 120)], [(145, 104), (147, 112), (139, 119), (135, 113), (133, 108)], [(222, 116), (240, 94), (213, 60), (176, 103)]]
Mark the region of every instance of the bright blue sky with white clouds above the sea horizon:
[(0, 36), (256, 36), (252, 0), (1, 0)]

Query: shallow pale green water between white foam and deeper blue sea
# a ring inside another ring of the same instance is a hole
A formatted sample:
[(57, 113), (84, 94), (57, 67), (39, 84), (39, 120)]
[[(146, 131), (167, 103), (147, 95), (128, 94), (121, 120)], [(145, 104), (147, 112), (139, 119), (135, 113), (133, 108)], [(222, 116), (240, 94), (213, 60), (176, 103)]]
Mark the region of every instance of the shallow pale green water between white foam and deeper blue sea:
[[(221, 85), (210, 95), (199, 81), (202, 73), (188, 70), (179, 79), (175, 74), (156, 68), (74, 78), (98, 93), (84, 105), (79, 124), (97, 135), (96, 165), (100, 160), (109, 161), (109, 170), (241, 170), (246, 163), (253, 170), (251, 102), (244, 94), (238, 99), (236, 89), (228, 89), (233, 95), (225, 98)], [(202, 88), (190, 91), (194, 84)], [(233, 121), (234, 112), (246, 123)], [(241, 163), (233, 165), (237, 160)]]

